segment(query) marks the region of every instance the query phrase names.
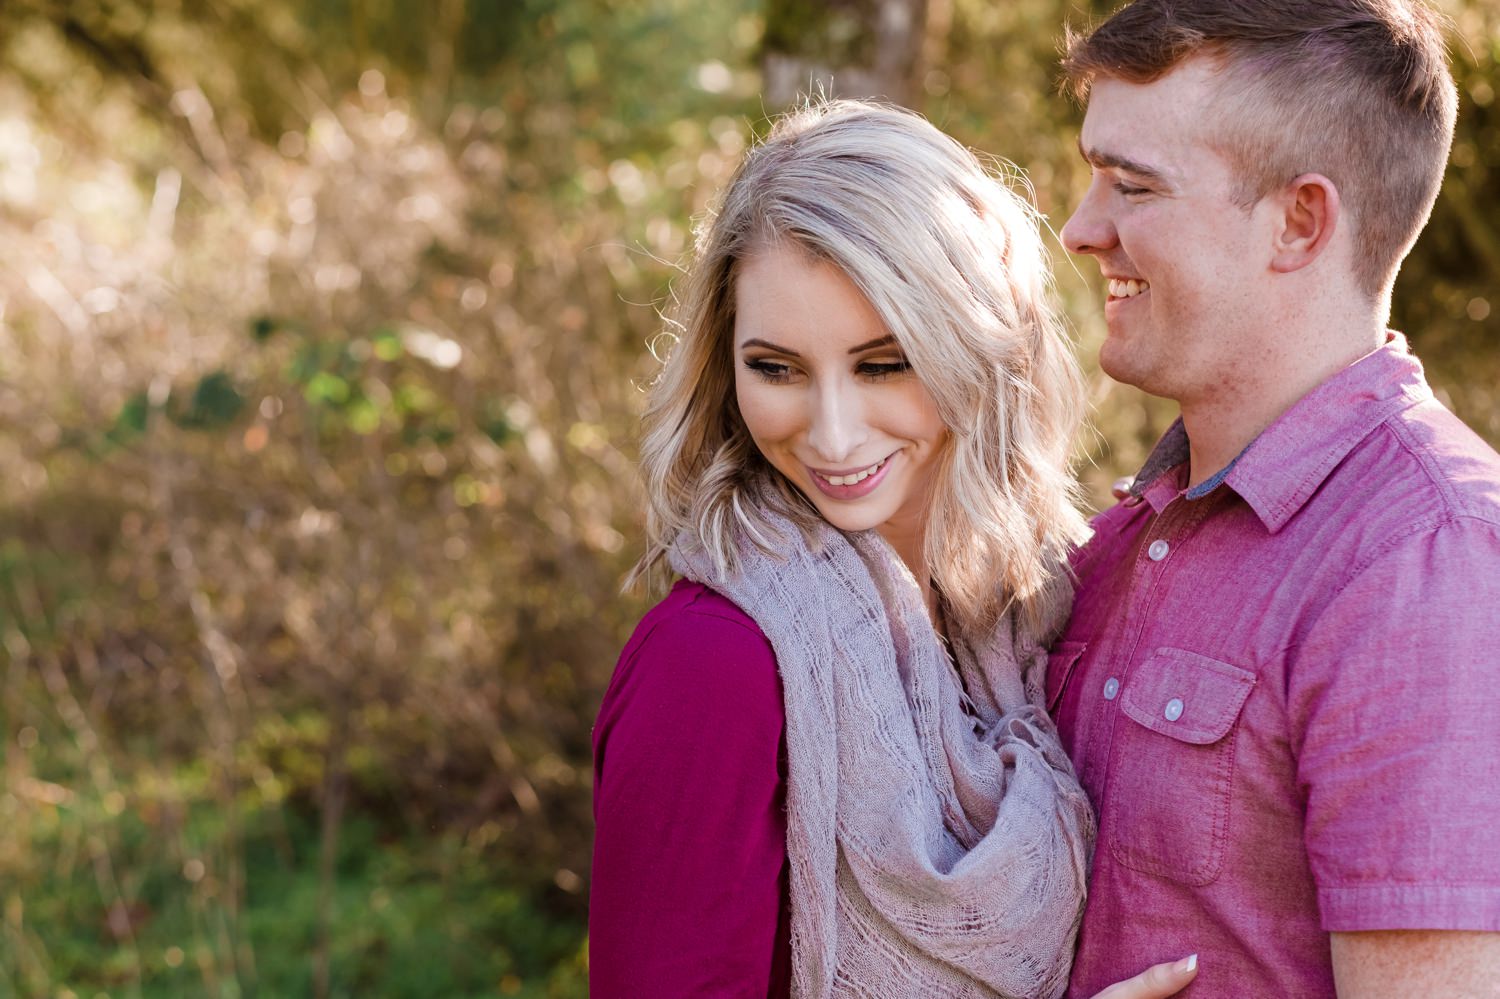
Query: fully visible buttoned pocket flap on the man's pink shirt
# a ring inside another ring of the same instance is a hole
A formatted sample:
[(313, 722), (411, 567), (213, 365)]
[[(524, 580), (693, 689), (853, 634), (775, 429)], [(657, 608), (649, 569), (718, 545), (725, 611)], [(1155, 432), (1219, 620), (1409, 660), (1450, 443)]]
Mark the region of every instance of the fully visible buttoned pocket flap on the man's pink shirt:
[(1208, 746), (1228, 734), (1254, 686), (1256, 674), (1248, 669), (1180, 648), (1158, 648), (1131, 670), (1120, 708), (1152, 732)]

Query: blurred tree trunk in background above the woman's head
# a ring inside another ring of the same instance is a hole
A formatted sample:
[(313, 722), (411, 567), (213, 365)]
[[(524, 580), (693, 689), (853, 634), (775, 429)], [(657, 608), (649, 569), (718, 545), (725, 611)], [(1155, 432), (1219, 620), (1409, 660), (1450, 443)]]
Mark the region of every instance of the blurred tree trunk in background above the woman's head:
[(762, 69), (768, 108), (801, 94), (922, 94), (928, 0), (766, 0)]

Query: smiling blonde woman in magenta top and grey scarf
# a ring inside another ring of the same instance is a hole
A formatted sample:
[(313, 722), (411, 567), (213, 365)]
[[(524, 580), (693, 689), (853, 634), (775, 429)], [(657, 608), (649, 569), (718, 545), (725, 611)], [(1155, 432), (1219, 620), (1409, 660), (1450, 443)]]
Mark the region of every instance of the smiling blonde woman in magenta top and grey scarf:
[(680, 580), (594, 730), (594, 994), (1060, 994), (1094, 818), (1040, 687), (1082, 390), (1032, 210), (918, 116), (820, 104), (684, 291), (638, 568)]

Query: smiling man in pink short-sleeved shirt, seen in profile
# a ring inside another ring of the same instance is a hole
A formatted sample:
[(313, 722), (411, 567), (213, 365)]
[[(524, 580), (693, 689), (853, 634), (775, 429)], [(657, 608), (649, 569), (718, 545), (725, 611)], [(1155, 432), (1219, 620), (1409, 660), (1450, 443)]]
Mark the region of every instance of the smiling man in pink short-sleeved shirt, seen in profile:
[(1077, 558), (1074, 996), (1500, 996), (1500, 456), (1386, 330), (1456, 96), (1414, 0), (1138, 0), (1070, 40), (1101, 364), (1182, 420)]

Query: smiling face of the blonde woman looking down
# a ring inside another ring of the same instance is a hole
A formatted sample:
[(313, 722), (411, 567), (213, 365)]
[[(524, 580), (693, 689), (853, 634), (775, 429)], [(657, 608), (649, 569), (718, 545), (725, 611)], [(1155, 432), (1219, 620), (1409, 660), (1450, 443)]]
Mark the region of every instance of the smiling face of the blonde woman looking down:
[(795, 246), (741, 262), (735, 398), (750, 436), (843, 531), (879, 531), (916, 570), (948, 438), (927, 388), (854, 282)]

